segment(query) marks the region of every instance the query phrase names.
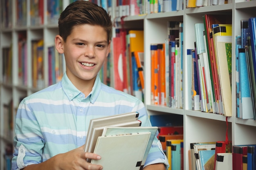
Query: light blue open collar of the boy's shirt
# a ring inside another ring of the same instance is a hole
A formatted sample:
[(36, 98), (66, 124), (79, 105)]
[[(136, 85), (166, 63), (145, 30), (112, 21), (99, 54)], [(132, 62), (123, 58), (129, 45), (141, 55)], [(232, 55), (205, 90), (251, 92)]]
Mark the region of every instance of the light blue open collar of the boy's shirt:
[[(78, 96), (79, 94), (82, 94), (84, 96), (84, 94), (79, 91), (74, 84), (72, 84), (72, 82), (70, 81), (70, 79), (67, 77), (67, 74), (64, 73), (63, 77), (61, 79), (61, 86), (63, 88), (63, 91), (65, 93), (65, 95), (67, 96), (67, 98), (71, 101), (73, 100), (76, 96)], [(88, 95), (88, 97), (90, 98), (90, 102), (93, 104), (95, 102), (95, 100), (97, 99), (97, 97), (99, 96), (99, 93), (101, 91), (101, 79), (99, 77), (99, 74), (97, 75), (94, 85), (92, 87), (92, 91), (91, 93)], [(85, 97), (85, 96), (84, 96)]]

